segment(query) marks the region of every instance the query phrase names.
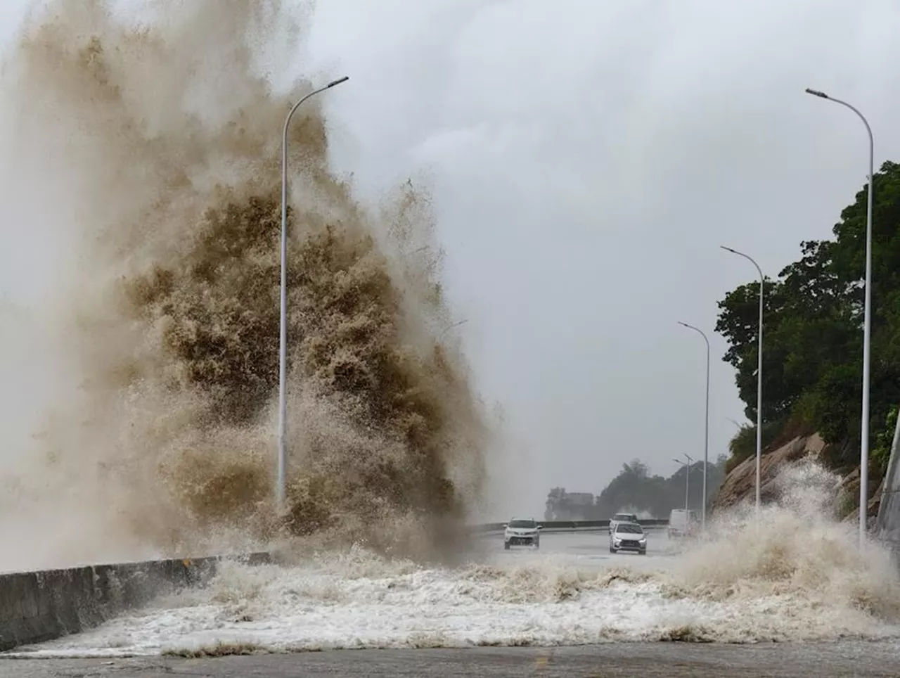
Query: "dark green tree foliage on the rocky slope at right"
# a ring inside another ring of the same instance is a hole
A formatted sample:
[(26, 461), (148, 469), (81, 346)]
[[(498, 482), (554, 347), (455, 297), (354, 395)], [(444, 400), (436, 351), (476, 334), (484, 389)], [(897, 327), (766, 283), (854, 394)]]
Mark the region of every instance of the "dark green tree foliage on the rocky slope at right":
[[(851, 466), (860, 444), (867, 195), (864, 187), (842, 211), (833, 240), (802, 242), (800, 258), (764, 288), (763, 438), (800, 422), (826, 442), (850, 443), (838, 466)], [(874, 198), (868, 425), (878, 435), (900, 402), (900, 165), (886, 162), (876, 173)], [(754, 421), (759, 290), (756, 282), (726, 294), (716, 323)], [(743, 454), (747, 434), (737, 438), (732, 451)]]

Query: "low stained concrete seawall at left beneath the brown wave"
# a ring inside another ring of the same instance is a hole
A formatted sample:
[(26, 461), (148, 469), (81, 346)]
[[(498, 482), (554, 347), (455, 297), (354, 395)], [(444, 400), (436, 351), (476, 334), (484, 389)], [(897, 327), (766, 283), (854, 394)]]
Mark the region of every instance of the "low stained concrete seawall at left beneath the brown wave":
[(0, 652), (77, 633), (157, 595), (209, 582), (222, 560), (251, 565), (266, 553), (93, 565), (0, 574)]

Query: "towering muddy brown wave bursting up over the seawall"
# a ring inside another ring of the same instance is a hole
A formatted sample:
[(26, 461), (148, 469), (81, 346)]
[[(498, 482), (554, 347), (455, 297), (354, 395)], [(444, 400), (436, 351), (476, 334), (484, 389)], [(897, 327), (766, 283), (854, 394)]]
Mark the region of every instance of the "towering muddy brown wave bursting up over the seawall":
[(428, 193), (359, 203), (315, 99), (289, 145), (275, 511), (281, 130), (311, 85), (277, 94), (265, 66), (272, 45), (300, 49), (304, 20), (257, 0), (60, 0), (8, 51), (4, 149), (22, 169), (7, 189), (35, 204), (16, 228), (67, 250), (59, 292), (29, 310), (46, 344), (30, 359), (58, 368), (4, 471), (0, 539), (23, 548), (0, 568), (284, 538), (430, 557), (461, 534), (491, 426), (442, 339), (455, 319)]

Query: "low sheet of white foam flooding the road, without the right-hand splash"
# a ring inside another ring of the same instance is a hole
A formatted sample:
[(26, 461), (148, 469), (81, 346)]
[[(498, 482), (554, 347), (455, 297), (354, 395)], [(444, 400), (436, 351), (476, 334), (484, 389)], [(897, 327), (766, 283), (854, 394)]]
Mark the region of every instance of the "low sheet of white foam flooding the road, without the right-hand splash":
[(659, 569), (652, 564), (661, 559), (639, 556), (605, 562), (521, 556), (427, 568), (356, 548), (293, 567), (226, 565), (205, 591), (16, 654), (900, 637), (896, 619), (864, 609), (852, 592), (835, 595), (832, 584), (800, 591), (782, 583), (780, 590), (762, 591), (751, 578), (743, 588), (722, 588), (715, 581), (695, 583), (692, 571), (684, 571), (685, 559)]

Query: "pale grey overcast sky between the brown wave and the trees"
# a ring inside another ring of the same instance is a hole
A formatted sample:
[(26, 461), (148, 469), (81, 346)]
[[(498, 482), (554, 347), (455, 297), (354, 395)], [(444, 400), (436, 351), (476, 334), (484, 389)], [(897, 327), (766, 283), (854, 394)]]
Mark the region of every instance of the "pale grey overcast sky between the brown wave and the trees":
[(775, 276), (865, 182), (861, 122), (806, 86), (868, 115), (877, 165), (900, 159), (900, 3), (317, 5), (298, 62), (351, 77), (323, 102), (335, 167), (363, 194), (434, 188), (455, 331), (521, 455), (500, 513), (599, 493), (633, 457), (702, 457), (706, 349), (677, 321), (712, 342), (725, 452), (743, 403), (716, 301), (756, 271), (719, 245)]

